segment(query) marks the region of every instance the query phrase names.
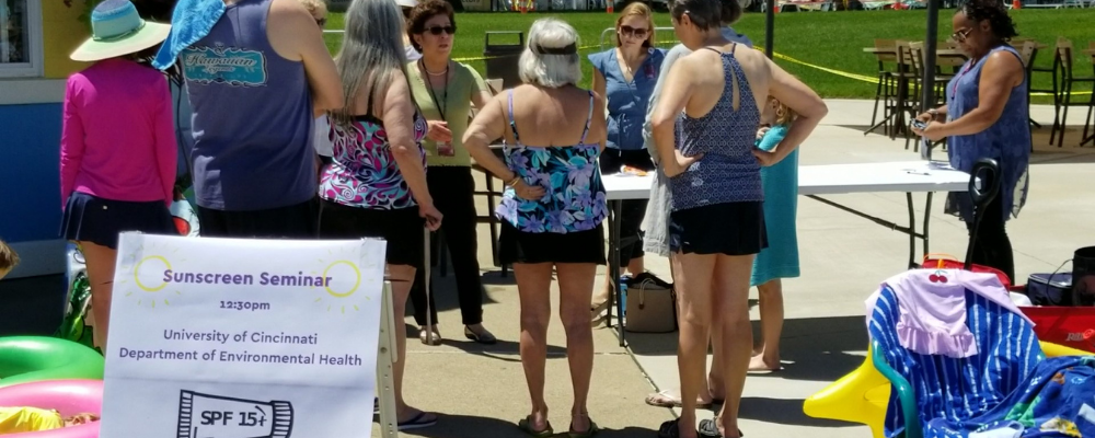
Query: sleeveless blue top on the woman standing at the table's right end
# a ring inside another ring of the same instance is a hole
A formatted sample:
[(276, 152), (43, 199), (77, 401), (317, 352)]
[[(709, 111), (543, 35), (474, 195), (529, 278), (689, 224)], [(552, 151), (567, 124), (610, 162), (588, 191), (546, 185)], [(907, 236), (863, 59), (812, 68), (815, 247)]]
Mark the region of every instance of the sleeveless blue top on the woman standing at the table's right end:
[[(977, 108), (978, 87), (981, 82), (981, 67), (989, 55), (1008, 51), (1016, 57), (1019, 53), (1008, 45), (993, 48), (977, 64), (967, 60), (961, 70), (947, 83), (947, 114), (957, 119)], [(1022, 60), (1022, 57), (1019, 57)], [(1026, 73), (1024, 73), (1025, 76)], [(947, 157), (950, 165), (964, 172), (973, 169), (977, 160), (991, 158), (1000, 164), (1000, 197), (1004, 220), (1018, 217), (1026, 204), (1028, 188), (1027, 168), (1030, 163), (1030, 112), (1027, 108), (1026, 82), (1012, 89), (1004, 104), (1000, 119), (988, 129), (969, 136), (947, 137)], [(957, 214), (963, 220), (973, 220), (973, 206), (967, 192), (953, 192), (947, 196), (945, 211)]]

